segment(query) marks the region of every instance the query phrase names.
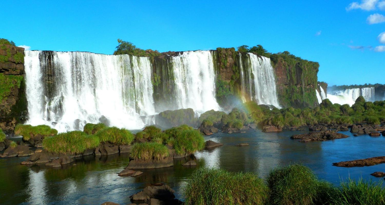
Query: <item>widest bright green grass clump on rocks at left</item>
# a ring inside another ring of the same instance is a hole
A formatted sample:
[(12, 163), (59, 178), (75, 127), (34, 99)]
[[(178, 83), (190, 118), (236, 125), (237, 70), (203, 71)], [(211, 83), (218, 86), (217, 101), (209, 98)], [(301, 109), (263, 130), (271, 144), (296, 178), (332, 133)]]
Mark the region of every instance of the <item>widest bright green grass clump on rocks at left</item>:
[(95, 135), (87, 135), (82, 131), (60, 133), (43, 139), (45, 150), (57, 154), (82, 153), (85, 150), (99, 146), (99, 138)]

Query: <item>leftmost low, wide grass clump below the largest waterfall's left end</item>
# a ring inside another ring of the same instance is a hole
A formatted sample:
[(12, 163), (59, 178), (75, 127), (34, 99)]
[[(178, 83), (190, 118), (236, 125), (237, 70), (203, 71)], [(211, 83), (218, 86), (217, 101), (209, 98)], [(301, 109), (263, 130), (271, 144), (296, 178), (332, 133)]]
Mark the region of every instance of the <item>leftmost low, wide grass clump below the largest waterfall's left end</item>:
[(48, 125), (16, 125), (15, 134), (22, 135), (23, 140), (29, 140), (32, 135), (53, 136), (57, 134), (57, 130), (52, 129)]

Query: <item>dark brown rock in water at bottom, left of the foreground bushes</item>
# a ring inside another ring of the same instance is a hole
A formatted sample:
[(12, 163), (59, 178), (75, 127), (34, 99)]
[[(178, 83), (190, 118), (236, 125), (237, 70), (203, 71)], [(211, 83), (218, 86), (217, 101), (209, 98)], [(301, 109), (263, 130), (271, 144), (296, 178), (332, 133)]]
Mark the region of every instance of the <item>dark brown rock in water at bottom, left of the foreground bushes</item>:
[(158, 200), (167, 201), (175, 198), (174, 193), (175, 191), (172, 190), (168, 185), (148, 186), (142, 191), (130, 196), (130, 198), (134, 201), (145, 201), (149, 198), (156, 198)]

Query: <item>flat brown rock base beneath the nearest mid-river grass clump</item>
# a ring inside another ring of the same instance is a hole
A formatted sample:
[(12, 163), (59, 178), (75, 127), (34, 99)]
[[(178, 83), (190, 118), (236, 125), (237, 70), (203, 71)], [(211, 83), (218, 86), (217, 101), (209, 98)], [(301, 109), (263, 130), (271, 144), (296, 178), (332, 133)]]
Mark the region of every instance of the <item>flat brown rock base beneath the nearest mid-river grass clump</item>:
[(174, 166), (173, 158), (166, 157), (162, 160), (132, 160), (126, 169), (153, 169)]

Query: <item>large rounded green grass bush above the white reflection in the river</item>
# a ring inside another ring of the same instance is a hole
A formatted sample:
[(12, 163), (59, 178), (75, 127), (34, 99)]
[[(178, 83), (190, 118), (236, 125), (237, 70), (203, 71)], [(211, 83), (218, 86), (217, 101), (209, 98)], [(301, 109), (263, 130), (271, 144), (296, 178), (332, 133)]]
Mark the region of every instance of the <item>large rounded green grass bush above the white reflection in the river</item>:
[(198, 130), (183, 130), (173, 135), (167, 143), (174, 147), (177, 154), (191, 154), (204, 148), (204, 138)]

